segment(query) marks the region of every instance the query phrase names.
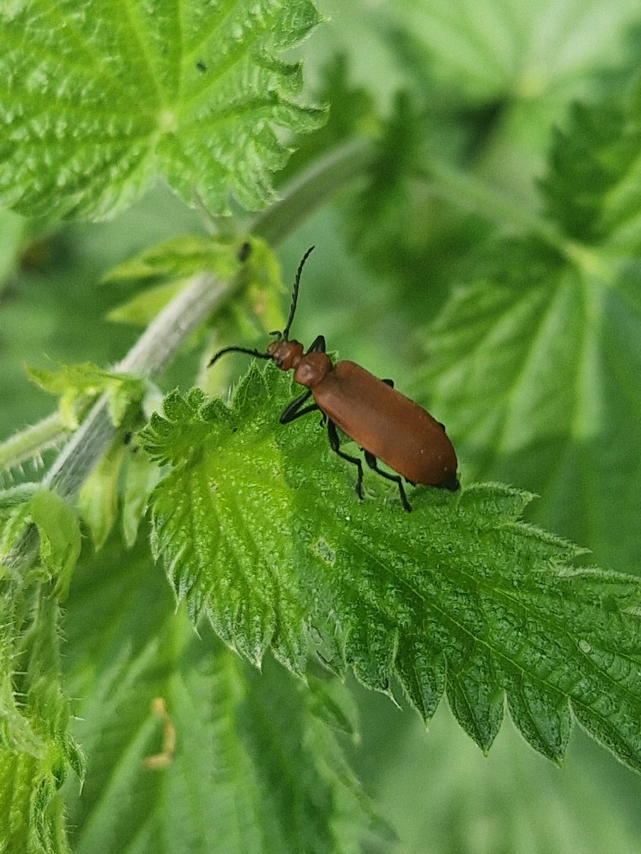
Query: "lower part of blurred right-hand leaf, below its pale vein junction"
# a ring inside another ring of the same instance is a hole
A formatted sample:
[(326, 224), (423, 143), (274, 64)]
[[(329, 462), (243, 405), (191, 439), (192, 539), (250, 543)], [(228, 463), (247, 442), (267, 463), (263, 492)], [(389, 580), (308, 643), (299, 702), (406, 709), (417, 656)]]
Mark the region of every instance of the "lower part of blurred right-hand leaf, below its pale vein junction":
[(599, 250), (562, 258), (531, 237), (491, 245), (426, 330), (420, 388), (473, 477), (542, 496), (533, 512), (635, 570), (641, 490), (638, 271)]

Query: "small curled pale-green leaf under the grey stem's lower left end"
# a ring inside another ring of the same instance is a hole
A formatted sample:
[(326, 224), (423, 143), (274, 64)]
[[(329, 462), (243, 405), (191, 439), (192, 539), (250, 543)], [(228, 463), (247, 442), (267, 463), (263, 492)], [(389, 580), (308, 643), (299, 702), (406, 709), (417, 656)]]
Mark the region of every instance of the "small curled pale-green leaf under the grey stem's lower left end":
[(80, 554), (78, 514), (47, 489), (39, 489), (29, 501), (29, 512), (38, 526), (40, 558), (56, 579), (56, 593), (64, 599)]

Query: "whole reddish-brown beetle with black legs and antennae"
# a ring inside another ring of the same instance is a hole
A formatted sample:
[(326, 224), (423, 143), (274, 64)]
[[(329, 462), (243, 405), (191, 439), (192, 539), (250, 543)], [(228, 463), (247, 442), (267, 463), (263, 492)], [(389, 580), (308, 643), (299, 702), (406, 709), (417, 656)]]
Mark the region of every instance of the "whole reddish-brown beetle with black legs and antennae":
[[(245, 347), (225, 347), (209, 361), (209, 366), (227, 353), (246, 353), (257, 359), (272, 360), (281, 371), (293, 370), (294, 381), (304, 386), (306, 391), (285, 407), (280, 415), (280, 424), (289, 424), (309, 412), (320, 410), (332, 451), (356, 465), (355, 488), (361, 500), (362, 461), (340, 449), (337, 428), (361, 447), (365, 462), (373, 471), (397, 484), (406, 511), (412, 508), (403, 488), (403, 478), (413, 485), (422, 483), (458, 489), (456, 453), (443, 424), (417, 403), (401, 395), (391, 379), (374, 377), (355, 362), (332, 364), (325, 352), (324, 336), (317, 336), (304, 353), (303, 344), (290, 339), (301, 273), (313, 249), (311, 246), (307, 250), (298, 265), (285, 329), (270, 333), (276, 336), (276, 340), (268, 344), (264, 353)], [(310, 397), (314, 402), (305, 406)], [(380, 469), (378, 460), (397, 474)]]

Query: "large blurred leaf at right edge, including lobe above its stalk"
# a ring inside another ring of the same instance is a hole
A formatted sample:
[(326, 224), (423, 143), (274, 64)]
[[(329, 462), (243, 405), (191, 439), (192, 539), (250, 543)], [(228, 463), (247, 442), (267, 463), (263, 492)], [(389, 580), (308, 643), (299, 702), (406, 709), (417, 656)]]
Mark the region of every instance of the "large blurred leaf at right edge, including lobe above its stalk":
[(475, 477), (519, 477), (538, 518), (626, 570), (641, 556), (641, 272), (622, 250), (641, 245), (637, 102), (574, 108), (543, 182), (565, 233), (488, 244), (426, 330), (421, 383)]

